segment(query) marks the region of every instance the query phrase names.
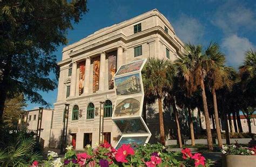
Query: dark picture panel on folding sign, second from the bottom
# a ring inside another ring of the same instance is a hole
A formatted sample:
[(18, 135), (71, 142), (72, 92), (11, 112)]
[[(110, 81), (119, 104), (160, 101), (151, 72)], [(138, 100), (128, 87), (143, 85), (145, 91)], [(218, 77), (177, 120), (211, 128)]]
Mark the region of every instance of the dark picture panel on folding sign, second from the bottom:
[(117, 127), (123, 134), (142, 134), (147, 133), (147, 130), (140, 118), (134, 119), (122, 119), (122, 120), (113, 120), (116, 123)]

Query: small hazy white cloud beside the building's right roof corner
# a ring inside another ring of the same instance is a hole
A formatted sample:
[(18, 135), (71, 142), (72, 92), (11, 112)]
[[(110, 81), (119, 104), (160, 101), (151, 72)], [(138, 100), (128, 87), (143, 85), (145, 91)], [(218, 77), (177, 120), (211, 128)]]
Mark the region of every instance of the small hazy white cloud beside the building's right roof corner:
[(181, 14), (173, 21), (174, 31), (183, 42), (200, 43), (203, 40), (205, 27), (196, 18)]

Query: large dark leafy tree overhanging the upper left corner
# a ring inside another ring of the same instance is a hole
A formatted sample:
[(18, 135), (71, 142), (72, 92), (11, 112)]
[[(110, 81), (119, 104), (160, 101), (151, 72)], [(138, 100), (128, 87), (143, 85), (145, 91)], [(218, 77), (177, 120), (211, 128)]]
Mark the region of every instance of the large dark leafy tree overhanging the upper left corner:
[[(24, 93), (46, 105), (38, 91), (53, 90), (58, 76), (56, 48), (87, 12), (86, 0), (2, 0), (0, 2), (0, 120), (6, 93)], [(13, 94), (15, 95), (15, 94)]]

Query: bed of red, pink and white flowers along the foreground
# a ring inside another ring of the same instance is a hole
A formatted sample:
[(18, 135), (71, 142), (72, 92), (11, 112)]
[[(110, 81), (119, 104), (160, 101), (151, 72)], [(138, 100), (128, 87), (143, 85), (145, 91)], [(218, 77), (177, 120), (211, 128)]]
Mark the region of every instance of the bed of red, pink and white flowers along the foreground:
[[(33, 164), (36, 166), (37, 164)], [(192, 154), (189, 148), (180, 152), (167, 152), (161, 144), (123, 144), (114, 149), (111, 144), (100, 144), (95, 149), (86, 147), (86, 153), (76, 154), (72, 146), (66, 148), (64, 161), (49, 151), (44, 166), (209, 166), (211, 161), (200, 153)]]

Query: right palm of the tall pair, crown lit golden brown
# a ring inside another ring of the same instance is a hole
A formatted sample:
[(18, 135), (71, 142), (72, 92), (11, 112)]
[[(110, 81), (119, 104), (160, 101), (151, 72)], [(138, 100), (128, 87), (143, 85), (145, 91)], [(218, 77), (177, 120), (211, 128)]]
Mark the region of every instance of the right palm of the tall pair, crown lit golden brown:
[(207, 71), (207, 81), (211, 89), (213, 98), (213, 108), (215, 117), (215, 126), (217, 132), (218, 145), (221, 147), (223, 145), (220, 132), (219, 114), (216, 98), (216, 90), (223, 88), (225, 85), (227, 88), (231, 88), (231, 70), (230, 67), (225, 66), (225, 56), (220, 52), (220, 47), (218, 43), (210, 43), (208, 48), (205, 50), (208, 56), (208, 71)]

